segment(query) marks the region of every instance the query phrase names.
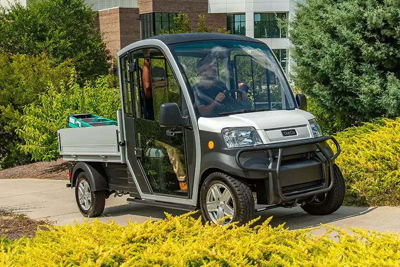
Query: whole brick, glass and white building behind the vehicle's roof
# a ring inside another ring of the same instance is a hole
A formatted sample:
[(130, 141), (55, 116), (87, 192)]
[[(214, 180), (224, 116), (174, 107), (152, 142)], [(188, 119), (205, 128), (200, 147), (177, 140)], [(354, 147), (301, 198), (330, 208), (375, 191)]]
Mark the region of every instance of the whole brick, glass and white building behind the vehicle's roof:
[[(226, 28), (231, 34), (259, 39), (275, 53), (288, 72), (289, 39), (278, 20), (291, 18), (303, 0), (86, 0), (99, 11), (99, 30), (113, 55), (129, 43), (159, 35), (175, 27), (173, 16), (187, 14), (190, 27), (205, 16), (213, 32)], [(108, 2), (107, 2), (108, 1)], [(112, 8), (112, 5), (119, 5)], [(101, 8), (108, 8), (101, 10)]]

